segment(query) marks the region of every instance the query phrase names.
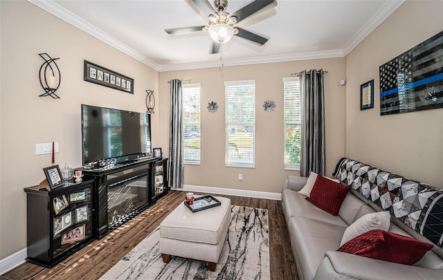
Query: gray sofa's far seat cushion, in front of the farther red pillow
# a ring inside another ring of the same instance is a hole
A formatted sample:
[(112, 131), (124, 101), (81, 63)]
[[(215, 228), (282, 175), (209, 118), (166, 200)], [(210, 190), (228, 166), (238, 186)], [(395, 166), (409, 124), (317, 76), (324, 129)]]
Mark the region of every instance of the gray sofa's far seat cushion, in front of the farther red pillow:
[(316, 207), (316, 205), (309, 203), (305, 198), (305, 196), (291, 189), (283, 190), (282, 207), (284, 208), (284, 218), (287, 224), (293, 216), (303, 216), (342, 227), (348, 226), (339, 216), (332, 216), (323, 209)]

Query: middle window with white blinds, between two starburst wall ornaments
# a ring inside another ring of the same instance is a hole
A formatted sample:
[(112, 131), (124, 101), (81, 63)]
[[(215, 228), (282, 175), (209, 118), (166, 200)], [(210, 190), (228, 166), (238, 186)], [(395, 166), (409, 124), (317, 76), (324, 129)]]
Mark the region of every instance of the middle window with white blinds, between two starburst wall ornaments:
[(255, 81), (225, 82), (225, 165), (255, 166)]

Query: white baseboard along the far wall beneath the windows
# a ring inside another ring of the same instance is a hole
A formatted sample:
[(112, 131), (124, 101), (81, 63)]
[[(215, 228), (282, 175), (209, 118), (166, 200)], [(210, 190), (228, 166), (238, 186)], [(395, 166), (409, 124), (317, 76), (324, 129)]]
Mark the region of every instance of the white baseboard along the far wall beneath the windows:
[(183, 192), (207, 192), (210, 194), (224, 194), (226, 196), (245, 196), (253, 198), (264, 198), (271, 200), (282, 200), (282, 194), (276, 192), (246, 191), (244, 189), (225, 189), (222, 187), (205, 187), (196, 185), (183, 185), (183, 189), (174, 189)]

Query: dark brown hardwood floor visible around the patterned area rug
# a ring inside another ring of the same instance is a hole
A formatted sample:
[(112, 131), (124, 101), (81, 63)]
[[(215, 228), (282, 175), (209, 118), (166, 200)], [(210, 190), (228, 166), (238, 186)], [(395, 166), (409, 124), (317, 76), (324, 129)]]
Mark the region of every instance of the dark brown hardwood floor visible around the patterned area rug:
[[(195, 193), (204, 194), (204, 193)], [(205, 195), (205, 194), (204, 194)], [(95, 240), (69, 256), (55, 267), (43, 268), (24, 263), (0, 276), (6, 279), (99, 279), (107, 270), (118, 263), (132, 248), (158, 227), (172, 210), (182, 203), (185, 194), (170, 191), (152, 207), (132, 218), (131, 221), (109, 232), (100, 240)], [(217, 194), (217, 196), (223, 196)], [(271, 279), (298, 279), (293, 260), (287, 226), (282, 213), (282, 203), (278, 200), (224, 196), (232, 205), (258, 207), (269, 212), (269, 254)]]

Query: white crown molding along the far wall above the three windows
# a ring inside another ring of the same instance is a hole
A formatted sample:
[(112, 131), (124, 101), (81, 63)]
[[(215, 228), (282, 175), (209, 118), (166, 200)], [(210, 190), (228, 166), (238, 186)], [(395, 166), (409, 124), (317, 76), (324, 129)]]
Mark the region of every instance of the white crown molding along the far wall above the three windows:
[(291, 55), (272, 55), (268, 57), (228, 59), (224, 60), (223, 62), (217, 59), (215, 61), (210, 61), (210, 62), (164, 65), (160, 67), (159, 72), (180, 71), (180, 70), (201, 69), (201, 68), (215, 68), (221, 66), (240, 66), (240, 65), (265, 64), (265, 63), (275, 63), (275, 62), (293, 62), (298, 60), (335, 58), (335, 57), (344, 57), (344, 56), (345, 55), (343, 55), (343, 51), (341, 50), (328, 50), (328, 51), (312, 52), (312, 53), (294, 53)]

